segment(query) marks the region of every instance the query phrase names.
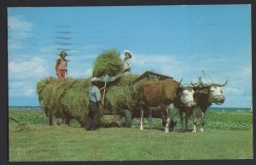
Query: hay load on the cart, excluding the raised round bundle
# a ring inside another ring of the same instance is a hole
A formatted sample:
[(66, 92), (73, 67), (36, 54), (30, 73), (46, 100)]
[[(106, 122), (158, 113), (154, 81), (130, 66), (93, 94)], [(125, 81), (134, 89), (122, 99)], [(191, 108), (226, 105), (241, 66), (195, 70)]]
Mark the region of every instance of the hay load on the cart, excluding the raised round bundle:
[[(103, 108), (118, 115), (124, 108), (131, 110), (137, 104), (132, 88), (132, 82), (136, 78), (136, 75), (123, 76), (107, 86), (105, 107), (101, 106), (101, 115)], [(59, 82), (56, 78), (49, 77), (38, 83), (38, 99), (47, 116), (51, 114), (61, 117), (64, 114), (84, 126), (89, 111), (89, 88), (90, 78), (65, 78)]]

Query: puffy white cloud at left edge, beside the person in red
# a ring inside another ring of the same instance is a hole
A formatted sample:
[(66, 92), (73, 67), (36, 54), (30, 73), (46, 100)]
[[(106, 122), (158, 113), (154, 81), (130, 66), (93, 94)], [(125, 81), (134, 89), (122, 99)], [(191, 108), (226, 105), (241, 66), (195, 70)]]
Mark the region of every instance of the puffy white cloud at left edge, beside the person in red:
[(21, 62), (11, 60), (9, 61), (9, 79), (26, 80), (31, 78), (36, 80), (48, 76), (48, 68), (48, 62), (39, 57)]

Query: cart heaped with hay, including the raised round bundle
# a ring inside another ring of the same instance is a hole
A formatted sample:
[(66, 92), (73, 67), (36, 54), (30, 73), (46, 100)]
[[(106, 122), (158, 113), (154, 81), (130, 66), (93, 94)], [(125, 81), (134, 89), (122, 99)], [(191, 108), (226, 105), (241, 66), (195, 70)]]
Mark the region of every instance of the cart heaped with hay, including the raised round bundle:
[[(101, 127), (131, 128), (131, 120), (140, 117), (137, 106), (137, 88), (145, 81), (164, 80), (167, 77), (146, 71), (143, 75), (124, 75), (123, 62), (119, 52), (104, 51), (96, 58), (93, 66), (93, 77), (100, 77), (99, 88), (102, 91), (103, 105), (101, 111)], [(49, 125), (57, 122), (69, 124), (76, 119), (81, 127), (85, 126), (89, 104), (90, 78), (65, 78), (58, 81), (55, 77), (41, 80), (37, 85), (38, 100), (41, 109), (49, 117)], [(160, 114), (152, 117), (160, 118)]]

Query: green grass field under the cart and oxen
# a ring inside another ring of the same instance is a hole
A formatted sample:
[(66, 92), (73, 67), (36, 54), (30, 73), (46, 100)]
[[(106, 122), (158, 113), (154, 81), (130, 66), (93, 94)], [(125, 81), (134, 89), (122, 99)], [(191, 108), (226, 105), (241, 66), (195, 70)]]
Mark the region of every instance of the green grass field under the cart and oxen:
[(253, 158), (252, 113), (211, 111), (206, 132), (196, 134), (165, 134), (157, 120), (152, 130), (139, 130), (135, 120), (132, 128), (84, 132), (75, 121), (50, 127), (42, 111), (9, 110), (9, 117), (26, 123), (9, 120), (10, 162)]

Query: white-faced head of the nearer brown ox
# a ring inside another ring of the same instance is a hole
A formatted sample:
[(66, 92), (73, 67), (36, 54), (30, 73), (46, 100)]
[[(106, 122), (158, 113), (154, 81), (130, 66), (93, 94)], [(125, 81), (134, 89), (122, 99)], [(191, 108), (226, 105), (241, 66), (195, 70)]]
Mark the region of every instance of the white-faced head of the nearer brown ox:
[(194, 94), (195, 91), (191, 85), (184, 86), (182, 89), (181, 101), (182, 103), (189, 108), (195, 107)]

